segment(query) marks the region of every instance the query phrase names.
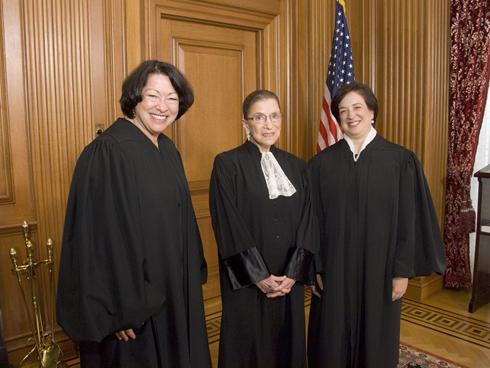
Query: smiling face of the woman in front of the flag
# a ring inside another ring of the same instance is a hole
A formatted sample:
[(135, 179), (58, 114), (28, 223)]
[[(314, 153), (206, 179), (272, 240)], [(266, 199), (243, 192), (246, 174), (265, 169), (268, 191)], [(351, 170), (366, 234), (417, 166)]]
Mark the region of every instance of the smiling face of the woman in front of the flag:
[(364, 139), (371, 130), (374, 112), (369, 110), (364, 98), (357, 92), (349, 92), (339, 104), (340, 124), (351, 139)]

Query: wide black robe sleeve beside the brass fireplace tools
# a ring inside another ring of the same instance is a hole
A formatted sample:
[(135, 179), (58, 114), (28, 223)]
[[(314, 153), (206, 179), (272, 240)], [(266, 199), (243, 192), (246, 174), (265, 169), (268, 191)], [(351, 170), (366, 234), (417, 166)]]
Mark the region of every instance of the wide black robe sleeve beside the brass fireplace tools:
[(63, 233), (57, 318), (75, 341), (139, 327), (165, 303), (145, 277), (131, 161), (100, 138), (78, 160)]

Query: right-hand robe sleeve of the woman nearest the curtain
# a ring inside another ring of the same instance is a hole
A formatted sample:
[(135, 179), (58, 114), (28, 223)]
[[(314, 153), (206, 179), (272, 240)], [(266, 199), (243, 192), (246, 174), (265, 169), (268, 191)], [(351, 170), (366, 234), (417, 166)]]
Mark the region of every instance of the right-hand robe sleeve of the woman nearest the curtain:
[(422, 166), (410, 153), (400, 177), (398, 231), (393, 277), (444, 272), (444, 243)]

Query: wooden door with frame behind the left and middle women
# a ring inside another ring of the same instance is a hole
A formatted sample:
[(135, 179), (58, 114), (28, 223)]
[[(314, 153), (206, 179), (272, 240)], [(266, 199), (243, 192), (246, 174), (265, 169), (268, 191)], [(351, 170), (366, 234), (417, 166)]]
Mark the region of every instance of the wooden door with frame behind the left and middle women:
[(275, 80), (279, 68), (264, 73), (264, 58), (278, 52), (277, 43), (265, 41), (265, 32), (276, 25), (279, 3), (249, 3), (256, 13), (230, 6), (233, 1), (227, 5), (155, 1), (150, 7), (150, 29), (155, 30), (149, 34), (151, 52), (178, 66), (194, 89), (194, 106), (167, 134), (182, 155), (204, 243), (209, 268), (204, 286), (207, 315), (221, 310), (217, 248), (208, 207), (213, 160), (244, 142), (241, 102), (249, 92), (264, 87), (281, 93), (277, 91), (280, 83), (265, 81), (271, 74)]

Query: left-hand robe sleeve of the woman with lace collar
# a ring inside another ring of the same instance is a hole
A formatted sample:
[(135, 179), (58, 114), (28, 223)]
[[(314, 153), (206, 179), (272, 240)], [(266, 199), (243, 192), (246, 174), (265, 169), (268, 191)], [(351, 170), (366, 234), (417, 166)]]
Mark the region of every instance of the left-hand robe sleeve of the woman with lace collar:
[(219, 257), (236, 290), (269, 277), (270, 272), (236, 206), (233, 165), (223, 155), (214, 160), (209, 207)]

